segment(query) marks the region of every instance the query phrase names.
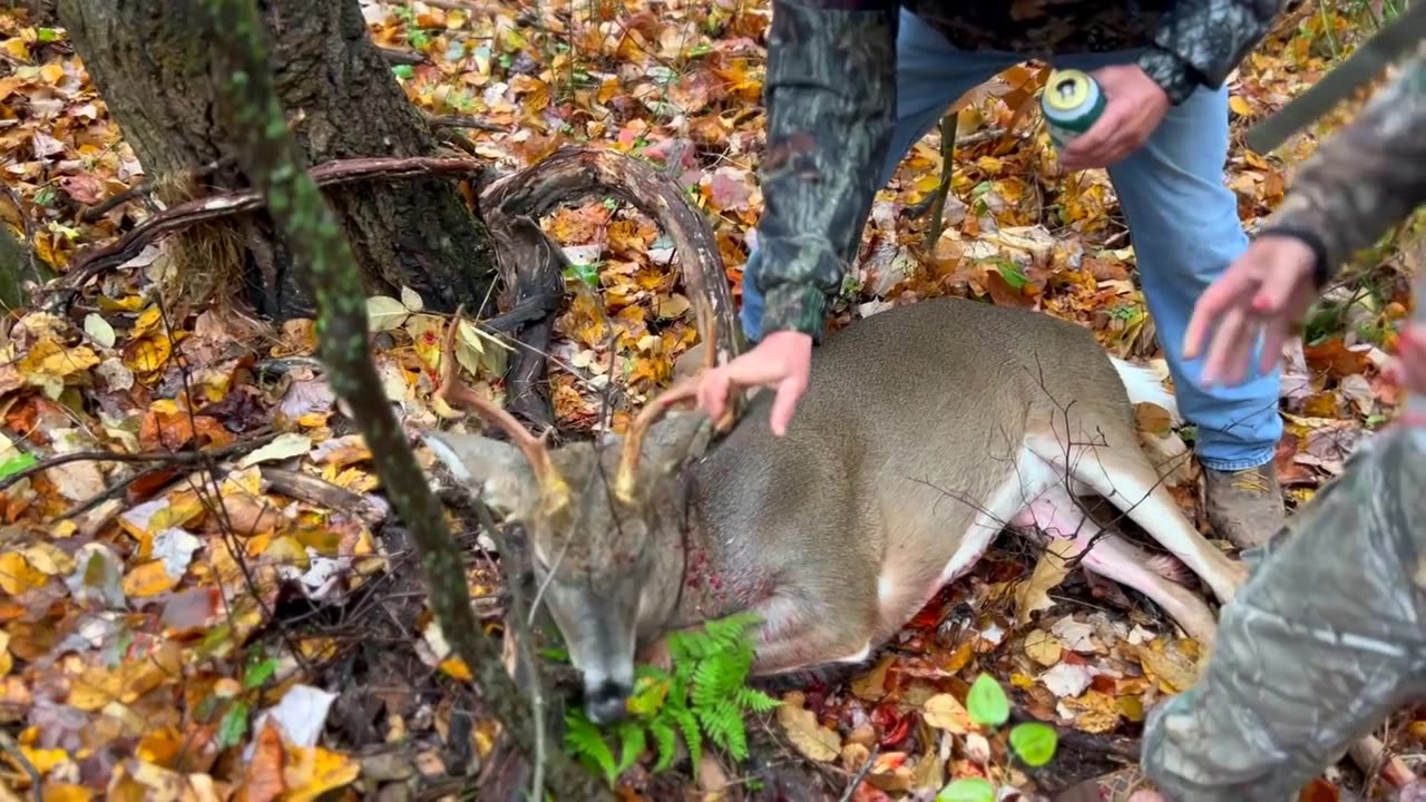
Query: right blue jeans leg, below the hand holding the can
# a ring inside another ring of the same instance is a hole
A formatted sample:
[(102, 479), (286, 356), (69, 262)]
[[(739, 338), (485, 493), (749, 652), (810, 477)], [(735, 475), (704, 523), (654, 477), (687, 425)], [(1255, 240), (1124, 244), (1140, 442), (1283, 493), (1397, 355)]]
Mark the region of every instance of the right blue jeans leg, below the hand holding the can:
[[(1137, 53), (1062, 59), (1057, 66), (1094, 70), (1132, 63)], [(1248, 237), (1238, 198), (1224, 184), (1228, 161), (1228, 88), (1199, 87), (1169, 108), (1149, 141), (1109, 170), (1129, 221), (1139, 280), (1166, 355), (1184, 417), (1198, 427), (1199, 461), (1236, 471), (1272, 460), (1282, 437), (1281, 370), (1253, 372), (1238, 387), (1199, 385), (1204, 360), (1184, 358), (1194, 304), (1243, 250)]]

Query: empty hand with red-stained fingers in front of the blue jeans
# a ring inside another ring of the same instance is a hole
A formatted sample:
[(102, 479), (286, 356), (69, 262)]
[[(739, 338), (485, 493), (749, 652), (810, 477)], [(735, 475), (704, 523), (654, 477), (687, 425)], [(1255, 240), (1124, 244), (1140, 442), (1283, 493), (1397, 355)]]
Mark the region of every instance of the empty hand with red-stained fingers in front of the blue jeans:
[(1202, 387), (1241, 384), (1258, 334), (1263, 334), (1259, 372), (1278, 364), (1283, 341), (1316, 297), (1315, 263), (1316, 254), (1302, 240), (1265, 234), (1198, 298), (1184, 334), (1184, 358), (1196, 358), (1206, 345)]

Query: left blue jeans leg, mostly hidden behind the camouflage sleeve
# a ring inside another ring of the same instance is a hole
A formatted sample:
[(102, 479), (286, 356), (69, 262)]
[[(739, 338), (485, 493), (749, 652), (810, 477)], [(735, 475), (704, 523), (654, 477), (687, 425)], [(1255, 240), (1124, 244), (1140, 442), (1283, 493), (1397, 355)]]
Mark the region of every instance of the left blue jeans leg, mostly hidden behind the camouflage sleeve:
[[(897, 121), (891, 147), (881, 166), (878, 186), (886, 186), (907, 151), (930, 131), (945, 108), (974, 86), (1021, 61), (1011, 53), (967, 53), (910, 11), (901, 11), (896, 43)], [(743, 268), (743, 308), (739, 320), (750, 341), (761, 337), (763, 294), (757, 290), (761, 264), (757, 248), (747, 254)]]

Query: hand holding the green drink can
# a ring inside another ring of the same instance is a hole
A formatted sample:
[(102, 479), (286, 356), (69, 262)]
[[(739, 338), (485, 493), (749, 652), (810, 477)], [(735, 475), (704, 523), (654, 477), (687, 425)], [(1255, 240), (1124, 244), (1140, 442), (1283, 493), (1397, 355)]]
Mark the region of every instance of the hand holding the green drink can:
[(1118, 164), (1148, 141), (1168, 113), (1168, 93), (1134, 64), (1102, 67), (1089, 76), (1104, 93), (1104, 113), (1061, 151), (1065, 170)]

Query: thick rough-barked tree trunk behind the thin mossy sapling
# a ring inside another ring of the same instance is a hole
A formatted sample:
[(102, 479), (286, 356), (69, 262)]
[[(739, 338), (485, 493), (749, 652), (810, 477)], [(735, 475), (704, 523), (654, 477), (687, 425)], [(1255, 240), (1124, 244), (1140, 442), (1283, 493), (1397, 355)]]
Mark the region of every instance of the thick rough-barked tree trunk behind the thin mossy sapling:
[[(210, 43), (174, 24), (164, 0), (58, 0), (60, 21), (150, 176), (231, 160), (232, 131), (214, 114)], [(264, 0), (272, 71), (308, 164), (331, 158), (431, 156), (438, 144), (366, 34), (356, 0)], [(210, 183), (245, 187), (237, 168)], [(371, 294), (411, 287), (434, 310), (485, 314), (495, 275), (489, 231), (451, 180), (337, 188), (327, 194)], [(241, 270), (268, 317), (309, 317), (312, 298), (267, 213), (245, 218)], [(181, 263), (222, 270), (214, 260)], [(224, 280), (222, 283), (227, 283)], [(220, 284), (222, 284), (220, 283)], [(237, 290), (235, 287), (224, 287)]]

